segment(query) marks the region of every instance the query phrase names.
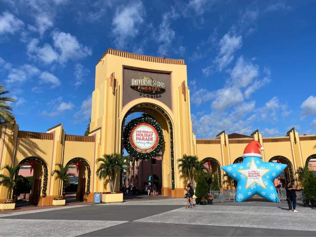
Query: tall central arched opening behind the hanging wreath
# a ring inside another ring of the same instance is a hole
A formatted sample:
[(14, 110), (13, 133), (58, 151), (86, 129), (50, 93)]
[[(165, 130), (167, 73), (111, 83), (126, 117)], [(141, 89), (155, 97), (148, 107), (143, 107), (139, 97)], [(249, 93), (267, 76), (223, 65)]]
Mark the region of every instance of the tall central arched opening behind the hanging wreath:
[[(137, 190), (137, 193), (145, 193), (145, 187), (148, 185), (148, 177), (155, 173), (158, 177), (157, 180), (159, 180), (156, 185), (157, 190), (159, 190), (159, 193), (161, 194), (161, 187), (165, 187), (165, 193), (163, 195), (168, 196), (167, 188), (174, 189), (173, 125), (168, 114), (155, 104), (145, 103), (136, 105), (132, 107), (123, 118), (121, 137), (123, 138), (124, 129), (128, 122), (131, 121), (131, 119), (140, 117), (142, 114), (151, 116), (161, 126), (165, 143), (163, 143), (160, 152), (154, 157), (148, 157), (147, 159), (138, 159), (137, 157), (132, 158), (132, 160), (135, 159), (136, 162), (131, 163), (132, 166), (130, 174), (128, 175), (130, 183), (132, 182), (132, 177), (136, 177), (137, 175), (135, 189)], [(127, 154), (128, 152), (125, 150), (122, 143), (121, 155)], [(167, 159), (168, 162), (162, 162), (163, 159)], [(163, 168), (163, 166), (168, 167)], [(169, 170), (171, 170), (171, 173)], [(131, 185), (131, 188), (132, 186), (133, 185)]]

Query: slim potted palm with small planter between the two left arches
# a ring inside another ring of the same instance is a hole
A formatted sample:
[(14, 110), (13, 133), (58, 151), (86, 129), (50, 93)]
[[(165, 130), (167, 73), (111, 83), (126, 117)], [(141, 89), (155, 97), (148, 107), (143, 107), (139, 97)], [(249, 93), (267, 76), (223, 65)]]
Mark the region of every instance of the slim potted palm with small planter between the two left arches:
[[(74, 173), (68, 173), (68, 167), (67, 166), (63, 166), (60, 163), (55, 164), (58, 166), (59, 169), (55, 169), (52, 171), (52, 176), (54, 176), (54, 174), (56, 174), (55, 180), (59, 179), (59, 186), (58, 186), (58, 197), (55, 197), (53, 199), (53, 203), (52, 205), (54, 206), (63, 206), (66, 204), (66, 199), (64, 199), (63, 196), (61, 196), (61, 185), (62, 182), (68, 182), (70, 181), (70, 177), (76, 176)], [(63, 194), (64, 194), (64, 190), (63, 190)], [(63, 198), (61, 198), (63, 197)]]

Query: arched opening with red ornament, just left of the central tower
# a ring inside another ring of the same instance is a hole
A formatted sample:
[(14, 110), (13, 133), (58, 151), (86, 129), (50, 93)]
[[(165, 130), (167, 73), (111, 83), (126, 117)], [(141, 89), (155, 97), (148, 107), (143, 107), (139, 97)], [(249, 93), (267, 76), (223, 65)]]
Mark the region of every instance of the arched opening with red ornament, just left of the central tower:
[(91, 169), (88, 161), (83, 158), (76, 157), (68, 161), (66, 164), (68, 173), (74, 173), (76, 176), (70, 178), (70, 183), (63, 183), (63, 192), (66, 202), (87, 201), (85, 194), (90, 193), (90, 176)]

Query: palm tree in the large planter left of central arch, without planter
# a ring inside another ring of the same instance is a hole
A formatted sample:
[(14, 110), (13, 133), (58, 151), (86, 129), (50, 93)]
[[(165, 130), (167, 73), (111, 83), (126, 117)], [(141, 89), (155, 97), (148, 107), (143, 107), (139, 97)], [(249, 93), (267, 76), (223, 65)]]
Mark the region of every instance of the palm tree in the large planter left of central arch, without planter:
[(130, 169), (130, 157), (121, 156), (117, 153), (112, 153), (110, 155), (104, 154), (103, 157), (98, 158), (95, 163), (100, 162), (100, 166), (95, 172), (100, 180), (108, 179), (110, 183), (110, 190), (114, 192), (118, 174), (122, 169), (126, 172)]

